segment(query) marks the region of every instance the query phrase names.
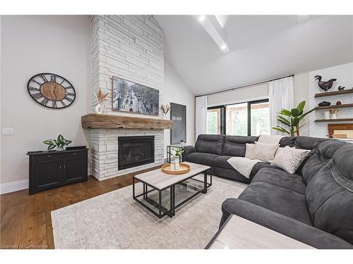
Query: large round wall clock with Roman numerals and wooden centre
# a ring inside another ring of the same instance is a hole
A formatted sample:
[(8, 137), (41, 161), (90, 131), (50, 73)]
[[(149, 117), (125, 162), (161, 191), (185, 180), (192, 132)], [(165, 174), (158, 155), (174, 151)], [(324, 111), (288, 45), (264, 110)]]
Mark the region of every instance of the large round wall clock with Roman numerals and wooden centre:
[(76, 98), (72, 84), (54, 73), (40, 73), (31, 77), (27, 89), (33, 100), (49, 108), (65, 108)]

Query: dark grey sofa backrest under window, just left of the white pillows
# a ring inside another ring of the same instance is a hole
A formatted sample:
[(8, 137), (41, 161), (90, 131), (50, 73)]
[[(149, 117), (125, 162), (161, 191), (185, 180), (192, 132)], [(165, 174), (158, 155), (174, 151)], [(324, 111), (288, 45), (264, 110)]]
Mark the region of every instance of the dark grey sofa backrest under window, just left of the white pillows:
[(222, 155), (233, 157), (245, 156), (245, 144), (254, 143), (258, 137), (245, 136), (225, 136), (225, 144), (223, 145)]

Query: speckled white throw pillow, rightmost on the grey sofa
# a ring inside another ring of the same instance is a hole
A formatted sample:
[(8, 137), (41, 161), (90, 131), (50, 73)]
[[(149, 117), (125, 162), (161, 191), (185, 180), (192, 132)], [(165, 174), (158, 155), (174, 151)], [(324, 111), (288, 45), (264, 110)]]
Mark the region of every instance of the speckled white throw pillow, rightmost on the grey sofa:
[(275, 165), (289, 173), (294, 173), (298, 170), (301, 163), (310, 153), (306, 149), (294, 149), (289, 146), (277, 150), (272, 165)]

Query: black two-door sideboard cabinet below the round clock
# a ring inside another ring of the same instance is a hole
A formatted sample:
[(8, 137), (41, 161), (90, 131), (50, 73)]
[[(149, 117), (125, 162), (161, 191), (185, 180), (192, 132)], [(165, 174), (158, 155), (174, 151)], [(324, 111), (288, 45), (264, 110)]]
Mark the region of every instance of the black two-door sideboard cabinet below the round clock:
[(88, 149), (66, 151), (32, 151), (30, 158), (29, 193), (60, 187), (88, 179)]

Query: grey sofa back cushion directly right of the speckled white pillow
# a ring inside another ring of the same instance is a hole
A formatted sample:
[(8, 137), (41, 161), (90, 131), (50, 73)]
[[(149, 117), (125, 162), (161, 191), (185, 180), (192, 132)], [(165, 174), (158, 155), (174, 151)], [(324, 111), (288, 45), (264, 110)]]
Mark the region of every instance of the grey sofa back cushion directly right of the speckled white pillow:
[[(316, 141), (315, 138), (312, 139)], [(303, 163), (301, 163), (297, 173), (301, 172), (304, 181), (306, 184), (309, 184), (313, 176), (316, 175), (316, 172), (333, 158), (335, 151), (346, 144), (346, 142), (326, 139), (317, 146), (317, 149), (313, 149), (311, 153), (309, 153), (309, 158), (306, 158)]]

